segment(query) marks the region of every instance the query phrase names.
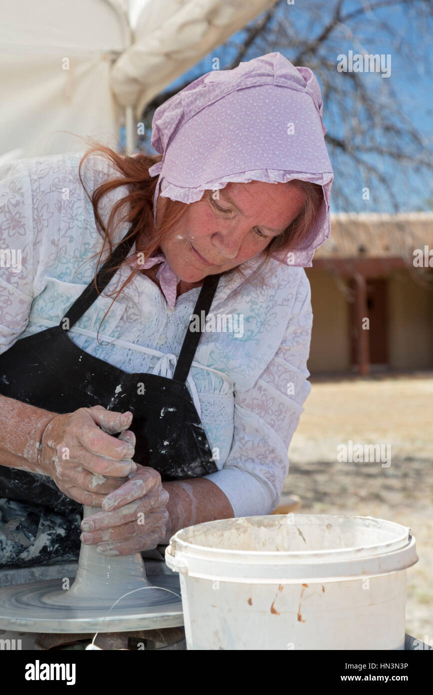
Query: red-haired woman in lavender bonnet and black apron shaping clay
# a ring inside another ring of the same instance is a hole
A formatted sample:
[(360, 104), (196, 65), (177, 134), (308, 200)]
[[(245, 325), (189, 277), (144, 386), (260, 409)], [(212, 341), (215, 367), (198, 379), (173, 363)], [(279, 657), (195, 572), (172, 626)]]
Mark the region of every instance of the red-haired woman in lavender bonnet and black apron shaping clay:
[(160, 106), (159, 156), (96, 147), (3, 174), (2, 247), (22, 252), (0, 282), (9, 564), (76, 552), (82, 504), (101, 507), (81, 540), (104, 555), (275, 508), (310, 390), (325, 132), (313, 73), (274, 53)]

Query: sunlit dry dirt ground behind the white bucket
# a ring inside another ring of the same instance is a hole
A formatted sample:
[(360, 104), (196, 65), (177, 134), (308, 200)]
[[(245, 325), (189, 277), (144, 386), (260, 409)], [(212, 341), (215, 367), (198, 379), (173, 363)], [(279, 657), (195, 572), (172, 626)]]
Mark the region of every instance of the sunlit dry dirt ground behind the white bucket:
[[(433, 374), (310, 381), (284, 491), (300, 496), (300, 512), (410, 527), (419, 561), (407, 571), (406, 632), (433, 646)], [(337, 462), (349, 440), (390, 444), (391, 465)]]

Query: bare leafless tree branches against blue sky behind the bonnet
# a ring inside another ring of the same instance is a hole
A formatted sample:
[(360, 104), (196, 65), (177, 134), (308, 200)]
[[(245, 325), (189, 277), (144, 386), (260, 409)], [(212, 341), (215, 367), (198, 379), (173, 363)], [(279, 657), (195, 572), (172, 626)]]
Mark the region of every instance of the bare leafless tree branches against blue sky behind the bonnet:
[[(405, 13), (403, 26), (393, 22), (397, 11)], [(380, 38), (390, 47), (387, 52), (407, 64), (414, 79), (417, 71), (423, 74), (423, 70), (430, 70), (432, 19), (432, 0), (366, 0), (358, 6), (350, 0), (304, 0), (302, 17), (286, 0), (280, 0), (220, 47), (221, 54), (229, 56), (222, 70), (274, 51), (280, 51), (294, 65), (307, 65), (313, 70), (322, 90), (326, 142), (336, 174), (333, 204), (337, 202), (346, 210), (366, 209), (357, 191), (368, 186), (372, 192), (370, 209), (374, 204), (396, 210), (397, 191), (408, 191), (407, 176), (411, 174), (420, 181), (417, 190), (420, 195), (425, 191), (425, 205), (429, 205), (432, 194), (426, 185), (430, 181), (432, 190), (432, 138), (418, 131), (391, 79), (374, 73), (338, 72), (336, 59), (347, 52), (350, 44), (361, 54), (380, 53), (374, 49)], [(157, 106), (193, 79), (189, 75), (183, 84), (155, 97), (143, 114), (145, 124), (150, 126)], [(348, 192), (351, 181), (352, 194)], [(402, 202), (410, 205), (414, 193), (413, 187)]]

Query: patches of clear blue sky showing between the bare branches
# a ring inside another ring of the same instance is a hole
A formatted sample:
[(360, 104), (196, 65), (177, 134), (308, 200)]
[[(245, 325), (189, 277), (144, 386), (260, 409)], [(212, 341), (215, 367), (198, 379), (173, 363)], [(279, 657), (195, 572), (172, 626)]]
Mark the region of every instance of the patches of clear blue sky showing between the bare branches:
[[(332, 3), (332, 6), (333, 5), (334, 3)], [(320, 6), (322, 8), (320, 19), (316, 25), (313, 24), (312, 34), (319, 31), (321, 26), (320, 22), (323, 21), (323, 15), (329, 12), (329, 8), (327, 8), (326, 5), (324, 6), (324, 3), (320, 2)], [(343, 5), (344, 13), (355, 10), (359, 8), (359, 6), (359, 2), (346, 1)], [(295, 0), (295, 5), (293, 6), (286, 6), (285, 3), (281, 3), (279, 12), (284, 13), (284, 15), (290, 13), (291, 22), (293, 22), (296, 31), (300, 31), (302, 34), (306, 33), (307, 22), (311, 19), (311, 13), (308, 13), (308, 3), (298, 4), (297, 0)], [(382, 26), (382, 22), (385, 19), (386, 22), (393, 26), (395, 34), (400, 38), (401, 45), (400, 49), (397, 51), (395, 51), (391, 38), (387, 35)], [(389, 78), (382, 78), (379, 75), (363, 74), (366, 87), (375, 90), (378, 86), (377, 81), (382, 80), (382, 83), (389, 82), (389, 85), (380, 85), (381, 88), (384, 88), (384, 99), (386, 99), (386, 90), (388, 90), (389, 86), (392, 86), (393, 90), (397, 92), (400, 101), (400, 111), (404, 113), (420, 133), (429, 140), (430, 147), (432, 147), (433, 60), (430, 49), (432, 41), (431, 38), (429, 38), (429, 27), (425, 23), (417, 27), (411, 17), (410, 11), (403, 7), (384, 8), (382, 10), (377, 10), (375, 15), (363, 15), (361, 18), (361, 25), (358, 25), (354, 38), (350, 36), (345, 38), (343, 32), (341, 32), (338, 36), (338, 40), (336, 40), (334, 46), (329, 49), (330, 53), (326, 54), (326, 57), (330, 60), (335, 59), (335, 62), (337, 62), (337, 54), (340, 52), (347, 54), (350, 49), (355, 53), (365, 50), (373, 54), (391, 54), (391, 76)], [(432, 24), (430, 24), (430, 32), (431, 30)], [(361, 41), (357, 40), (359, 37), (361, 37)], [(242, 42), (242, 39), (243, 32), (238, 32), (238, 34), (233, 37), (233, 40), (239, 43)], [(289, 60), (293, 58), (290, 48), (284, 49), (284, 47), (279, 46), (278, 49)], [(271, 50), (274, 49), (271, 48)], [(407, 55), (408, 53), (409, 56)], [(415, 59), (411, 53), (416, 55)], [(231, 51), (227, 51), (227, 49), (221, 46), (213, 49), (213, 51), (205, 56), (205, 58), (197, 63), (191, 70), (188, 70), (188, 72), (173, 81), (167, 89), (171, 89), (175, 85), (183, 83), (186, 79), (195, 79), (199, 74), (209, 72), (209, 70), (212, 69), (212, 58), (215, 56), (220, 58), (220, 67), (224, 67), (230, 62), (232, 55)], [(245, 59), (254, 58), (256, 55), (259, 55), (259, 53), (250, 52)], [(308, 62), (305, 62), (304, 65), (308, 65)], [(336, 79), (338, 79), (337, 72)], [(336, 114), (333, 113), (331, 108), (327, 110), (326, 103), (324, 105), (324, 120), (329, 133), (338, 136), (339, 124)], [(402, 136), (404, 136), (404, 133), (402, 133)], [(341, 185), (340, 181), (344, 180), (345, 193), (350, 197), (350, 207), (352, 210), (370, 212), (391, 211), (391, 202), (387, 197), (386, 191), (382, 190), (382, 184), (377, 182), (375, 186), (373, 186), (373, 199), (369, 201), (361, 200), (359, 191), (361, 187), (368, 182), (357, 179), (357, 172), (354, 170), (351, 163), (345, 163), (344, 158), (342, 162), (338, 161), (338, 163), (334, 163), (332, 152), (329, 154), (332, 159), (336, 179), (338, 177), (338, 184), (334, 183), (334, 187), (336, 185)], [(409, 154), (413, 153), (409, 152)], [(375, 156), (374, 154), (371, 154), (370, 158), (369, 161), (374, 162), (375, 165), (382, 168), (386, 175), (386, 179), (391, 183), (395, 197), (398, 198), (399, 209), (433, 209), (432, 172), (419, 174), (416, 167), (411, 169), (411, 167), (407, 165), (396, 166), (393, 161), (386, 159), (381, 161), (379, 156)], [(334, 206), (334, 211), (335, 210), (336, 208)]]

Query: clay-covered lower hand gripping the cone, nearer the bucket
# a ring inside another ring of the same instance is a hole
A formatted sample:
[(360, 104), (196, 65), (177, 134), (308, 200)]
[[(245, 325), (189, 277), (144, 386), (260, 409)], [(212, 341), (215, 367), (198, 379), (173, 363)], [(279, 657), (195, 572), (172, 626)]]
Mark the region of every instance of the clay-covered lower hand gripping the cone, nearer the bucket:
[(102, 555), (132, 555), (163, 543), (170, 520), (170, 496), (154, 468), (137, 464), (137, 473), (102, 502), (103, 512), (83, 519), (81, 541), (99, 543)]

